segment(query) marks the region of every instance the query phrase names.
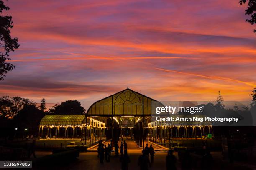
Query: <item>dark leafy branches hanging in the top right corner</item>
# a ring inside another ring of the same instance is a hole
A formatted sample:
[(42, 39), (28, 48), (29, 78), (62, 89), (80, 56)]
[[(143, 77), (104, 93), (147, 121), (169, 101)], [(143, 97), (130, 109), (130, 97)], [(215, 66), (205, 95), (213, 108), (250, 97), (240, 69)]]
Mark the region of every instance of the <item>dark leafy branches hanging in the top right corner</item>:
[[(251, 25), (256, 23), (256, 0), (240, 0), (240, 5), (243, 5), (248, 1), (248, 7), (245, 10), (245, 15), (251, 15), (251, 19), (246, 19), (246, 22), (250, 23)], [(253, 32), (256, 34), (256, 30), (254, 29)]]

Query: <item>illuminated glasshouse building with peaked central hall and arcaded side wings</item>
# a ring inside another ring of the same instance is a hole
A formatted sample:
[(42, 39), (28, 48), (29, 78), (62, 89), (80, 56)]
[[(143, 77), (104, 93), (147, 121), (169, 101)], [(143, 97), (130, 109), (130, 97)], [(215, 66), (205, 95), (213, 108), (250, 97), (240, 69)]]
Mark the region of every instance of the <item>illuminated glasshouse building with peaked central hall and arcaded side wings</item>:
[(40, 122), (39, 136), (82, 138), (86, 144), (94, 145), (100, 140), (115, 143), (123, 135), (131, 136), (142, 146), (145, 140), (161, 144), (172, 138), (202, 138), (213, 133), (207, 124), (151, 122), (151, 102), (157, 101), (127, 88), (95, 102), (86, 115), (46, 115)]

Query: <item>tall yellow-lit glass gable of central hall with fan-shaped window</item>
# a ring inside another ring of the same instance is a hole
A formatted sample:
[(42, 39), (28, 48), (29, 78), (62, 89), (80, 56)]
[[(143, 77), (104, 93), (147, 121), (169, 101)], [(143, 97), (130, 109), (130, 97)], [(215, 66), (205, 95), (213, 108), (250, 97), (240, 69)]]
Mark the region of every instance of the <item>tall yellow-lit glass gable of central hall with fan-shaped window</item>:
[(87, 115), (111, 116), (113, 108), (113, 116), (149, 116), (151, 115), (151, 101), (156, 100), (127, 88), (95, 102), (87, 110)]

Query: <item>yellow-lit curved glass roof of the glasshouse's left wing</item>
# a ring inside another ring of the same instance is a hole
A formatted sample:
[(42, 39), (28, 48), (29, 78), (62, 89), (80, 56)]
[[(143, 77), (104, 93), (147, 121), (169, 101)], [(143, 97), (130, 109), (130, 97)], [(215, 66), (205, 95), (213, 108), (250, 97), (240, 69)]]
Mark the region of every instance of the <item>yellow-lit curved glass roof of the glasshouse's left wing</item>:
[(45, 115), (40, 125), (82, 125), (85, 115)]

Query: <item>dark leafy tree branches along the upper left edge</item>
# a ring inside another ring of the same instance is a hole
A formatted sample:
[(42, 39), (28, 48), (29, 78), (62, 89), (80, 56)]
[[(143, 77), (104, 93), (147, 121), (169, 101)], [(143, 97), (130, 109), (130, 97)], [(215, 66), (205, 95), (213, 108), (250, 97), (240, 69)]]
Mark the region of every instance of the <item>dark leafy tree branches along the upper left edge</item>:
[[(0, 13), (3, 13), (3, 10), (10, 10), (8, 6), (0, 0)], [(18, 38), (11, 38), (10, 28), (13, 28), (13, 21), (11, 15), (2, 16), (0, 15), (0, 81), (3, 81), (8, 71), (11, 71), (15, 68), (15, 65), (6, 62), (10, 60), (10, 51), (18, 49), (20, 46), (18, 44)]]

